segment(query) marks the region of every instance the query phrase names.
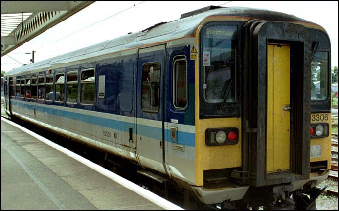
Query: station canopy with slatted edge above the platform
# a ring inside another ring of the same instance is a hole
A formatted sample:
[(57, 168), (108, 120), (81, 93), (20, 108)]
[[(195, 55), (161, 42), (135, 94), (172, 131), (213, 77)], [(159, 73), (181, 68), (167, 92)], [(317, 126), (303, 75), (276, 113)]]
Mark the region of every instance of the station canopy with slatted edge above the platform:
[(1, 1), (1, 57), (94, 1)]

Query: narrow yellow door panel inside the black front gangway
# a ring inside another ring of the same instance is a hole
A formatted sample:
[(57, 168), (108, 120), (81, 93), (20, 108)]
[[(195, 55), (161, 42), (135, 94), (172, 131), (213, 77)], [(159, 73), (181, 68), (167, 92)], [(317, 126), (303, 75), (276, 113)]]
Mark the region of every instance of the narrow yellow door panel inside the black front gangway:
[(266, 172), (290, 169), (290, 46), (267, 45)]

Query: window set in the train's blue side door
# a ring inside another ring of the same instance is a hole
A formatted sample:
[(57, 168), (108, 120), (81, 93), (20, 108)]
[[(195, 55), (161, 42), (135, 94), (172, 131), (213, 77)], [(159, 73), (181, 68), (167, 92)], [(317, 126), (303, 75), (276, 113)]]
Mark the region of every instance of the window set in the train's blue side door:
[(148, 63), (142, 67), (141, 108), (158, 112), (160, 96), (160, 63)]

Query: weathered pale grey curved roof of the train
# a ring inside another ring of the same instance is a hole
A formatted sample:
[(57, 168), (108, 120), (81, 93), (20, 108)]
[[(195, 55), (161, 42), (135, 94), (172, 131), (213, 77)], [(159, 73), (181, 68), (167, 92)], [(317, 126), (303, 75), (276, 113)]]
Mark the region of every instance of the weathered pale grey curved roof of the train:
[[(181, 19), (171, 22), (161, 22), (145, 30), (129, 33), (128, 35), (100, 42), (89, 47), (81, 48), (63, 55), (59, 55), (41, 62), (31, 63), (6, 73), (6, 76), (20, 74), (22, 72), (42, 71), (54, 65), (71, 63), (92, 57), (111, 54), (123, 50), (142, 48), (152, 43), (165, 42), (180, 39), (187, 36), (194, 36), (199, 24), (210, 16), (230, 16), (242, 20), (261, 19), (271, 21), (304, 22), (320, 28), (321, 26), (285, 13), (274, 12), (264, 9), (244, 7), (218, 7), (209, 6), (181, 15)], [(59, 66), (58, 65), (58, 66)]]

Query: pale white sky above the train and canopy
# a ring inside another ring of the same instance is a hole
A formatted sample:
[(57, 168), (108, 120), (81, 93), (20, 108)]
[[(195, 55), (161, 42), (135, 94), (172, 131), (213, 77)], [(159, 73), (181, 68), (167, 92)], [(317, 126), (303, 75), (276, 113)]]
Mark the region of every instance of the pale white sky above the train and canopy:
[(105, 1), (91, 4), (8, 54), (20, 63), (6, 55), (1, 57), (1, 70), (8, 72), (31, 63), (32, 55), (24, 54), (26, 52), (36, 51), (35, 62), (39, 62), (138, 32), (159, 22), (178, 20), (183, 13), (209, 5), (267, 9), (315, 22), (327, 31), (332, 47), (331, 65), (338, 66), (338, 1)]

